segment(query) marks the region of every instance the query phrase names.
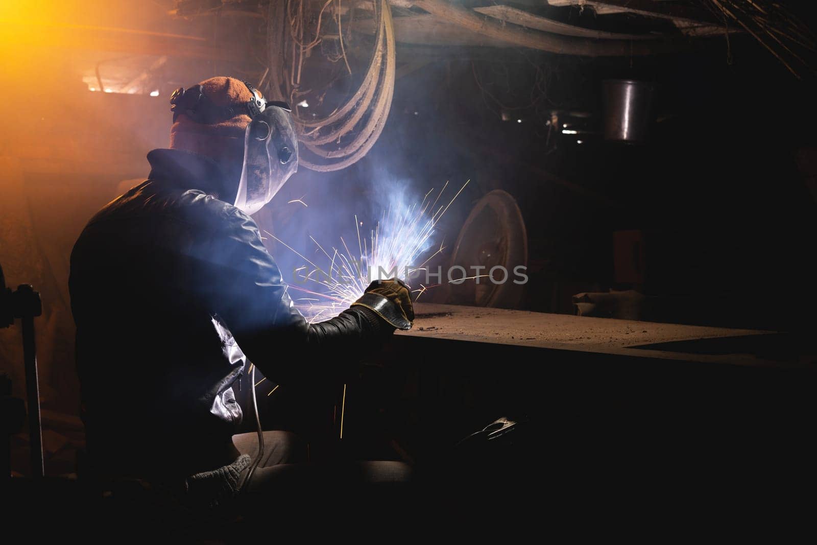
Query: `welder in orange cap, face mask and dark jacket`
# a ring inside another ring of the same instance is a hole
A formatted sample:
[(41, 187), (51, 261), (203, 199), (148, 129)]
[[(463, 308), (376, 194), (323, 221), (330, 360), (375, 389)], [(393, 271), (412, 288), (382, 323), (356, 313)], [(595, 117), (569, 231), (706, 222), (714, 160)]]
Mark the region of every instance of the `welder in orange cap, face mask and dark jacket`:
[[(399, 280), (373, 282), (319, 324), (292, 305), (250, 217), (297, 170), (288, 105), (218, 77), (178, 89), (171, 111), (169, 149), (150, 151), (148, 179), (102, 208), (71, 255), (85, 466), (215, 506), (282, 479), (293, 461), (291, 437), (265, 432), (266, 458), (246, 482), (232, 386), (249, 362), (281, 387), (342, 383), (355, 364), (328, 355), (376, 350), (411, 327), (413, 309)], [(355, 475), (407, 478), (400, 462), (368, 463)]]

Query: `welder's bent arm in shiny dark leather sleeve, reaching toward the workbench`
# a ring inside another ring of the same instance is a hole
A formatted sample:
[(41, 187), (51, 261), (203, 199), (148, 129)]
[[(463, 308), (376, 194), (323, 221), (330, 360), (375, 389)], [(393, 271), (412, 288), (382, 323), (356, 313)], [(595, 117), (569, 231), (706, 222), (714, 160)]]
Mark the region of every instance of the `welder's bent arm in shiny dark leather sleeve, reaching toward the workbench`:
[(212, 248), (220, 271), (213, 286), (217, 313), (270, 380), (284, 384), (340, 378), (357, 369), (362, 351), (376, 348), (394, 331), (367, 306), (352, 306), (333, 319), (309, 324), (293, 305), (292, 288), (283, 283), (251, 218), (235, 213), (229, 234), (220, 239)]

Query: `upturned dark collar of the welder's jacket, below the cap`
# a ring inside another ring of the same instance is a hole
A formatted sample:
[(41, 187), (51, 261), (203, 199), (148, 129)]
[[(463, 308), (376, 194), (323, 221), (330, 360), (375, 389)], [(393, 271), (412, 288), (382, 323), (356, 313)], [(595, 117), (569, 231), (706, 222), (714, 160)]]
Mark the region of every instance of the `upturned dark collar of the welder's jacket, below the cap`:
[(241, 171), (227, 172), (219, 163), (185, 150), (158, 149), (148, 153), (151, 180), (202, 190), (227, 203), (235, 202)]

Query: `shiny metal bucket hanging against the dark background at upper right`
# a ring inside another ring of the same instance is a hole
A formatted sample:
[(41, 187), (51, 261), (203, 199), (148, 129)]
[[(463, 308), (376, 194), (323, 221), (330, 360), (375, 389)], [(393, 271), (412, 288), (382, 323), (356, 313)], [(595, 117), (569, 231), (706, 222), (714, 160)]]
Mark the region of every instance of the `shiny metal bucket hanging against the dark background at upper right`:
[(657, 83), (605, 79), (605, 140), (640, 143), (650, 137), (655, 122)]

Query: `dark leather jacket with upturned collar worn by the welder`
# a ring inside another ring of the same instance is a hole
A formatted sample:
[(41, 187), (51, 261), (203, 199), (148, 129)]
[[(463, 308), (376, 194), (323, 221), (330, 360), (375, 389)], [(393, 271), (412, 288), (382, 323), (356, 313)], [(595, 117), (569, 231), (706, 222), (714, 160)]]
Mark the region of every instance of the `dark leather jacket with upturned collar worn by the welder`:
[[(247, 359), (282, 385), (340, 380), (337, 358), (391, 331), (355, 306), (309, 324), (217, 163), (148, 154), (147, 181), (107, 204), (71, 254), (89, 466), (186, 476), (225, 462)], [(225, 200), (228, 200), (225, 199)]]

